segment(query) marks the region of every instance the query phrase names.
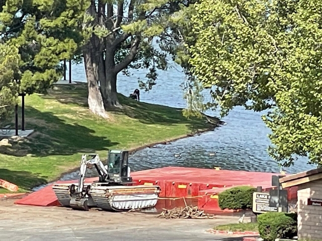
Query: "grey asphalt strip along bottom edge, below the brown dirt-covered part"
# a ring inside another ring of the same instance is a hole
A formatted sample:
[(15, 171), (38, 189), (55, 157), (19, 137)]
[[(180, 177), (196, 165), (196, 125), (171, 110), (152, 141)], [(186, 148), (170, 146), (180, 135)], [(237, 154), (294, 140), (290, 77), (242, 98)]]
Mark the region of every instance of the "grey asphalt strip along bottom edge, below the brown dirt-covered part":
[(53, 240), (242, 240), (241, 237), (219, 236), (205, 232), (180, 230), (176, 227), (169, 228), (128, 228), (128, 229), (109, 229), (109, 228), (91, 228), (91, 229), (73, 229), (61, 228), (52, 230), (28, 230), (18, 228), (14, 231), (2, 231), (1, 240), (33, 240), (33, 241), (53, 241)]

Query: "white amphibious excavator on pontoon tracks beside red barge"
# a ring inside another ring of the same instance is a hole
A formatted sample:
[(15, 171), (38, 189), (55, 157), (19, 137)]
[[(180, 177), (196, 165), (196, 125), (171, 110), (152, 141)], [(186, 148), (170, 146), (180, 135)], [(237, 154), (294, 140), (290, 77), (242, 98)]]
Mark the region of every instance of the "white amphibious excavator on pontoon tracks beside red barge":
[[(84, 154), (79, 169), (78, 183), (56, 183), (52, 189), (62, 206), (89, 210), (127, 211), (154, 207), (160, 192), (159, 186), (133, 185), (128, 165), (128, 151), (108, 151), (107, 165), (98, 154)], [(88, 167), (94, 166), (99, 180), (85, 183)]]

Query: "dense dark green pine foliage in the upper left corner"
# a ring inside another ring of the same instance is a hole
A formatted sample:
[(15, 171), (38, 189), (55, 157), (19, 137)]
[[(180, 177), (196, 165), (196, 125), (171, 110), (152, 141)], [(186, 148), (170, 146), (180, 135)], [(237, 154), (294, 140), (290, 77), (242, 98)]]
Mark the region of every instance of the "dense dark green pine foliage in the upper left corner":
[(19, 92), (43, 93), (61, 78), (60, 61), (83, 40), (74, 31), (83, 8), (75, 0), (0, 1), (1, 113), (10, 112)]

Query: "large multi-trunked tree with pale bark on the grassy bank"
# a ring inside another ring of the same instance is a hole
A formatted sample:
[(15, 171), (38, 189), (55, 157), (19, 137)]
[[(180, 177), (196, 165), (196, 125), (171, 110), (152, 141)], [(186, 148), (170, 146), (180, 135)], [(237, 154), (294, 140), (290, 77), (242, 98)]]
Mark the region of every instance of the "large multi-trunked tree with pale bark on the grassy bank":
[(166, 53), (157, 49), (159, 39), (171, 38), (172, 16), (187, 4), (185, 0), (91, 1), (84, 20), (83, 55), (94, 113), (105, 116), (104, 107), (121, 107), (117, 75), (129, 75), (130, 68), (149, 69), (148, 81), (140, 82), (140, 88), (151, 89), (156, 70), (167, 68)]

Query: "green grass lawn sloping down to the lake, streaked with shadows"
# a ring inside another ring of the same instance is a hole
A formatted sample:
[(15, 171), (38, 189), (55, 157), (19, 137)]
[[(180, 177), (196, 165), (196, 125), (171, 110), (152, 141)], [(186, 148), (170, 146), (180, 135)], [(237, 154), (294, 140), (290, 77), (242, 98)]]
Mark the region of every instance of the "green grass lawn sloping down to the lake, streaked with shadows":
[[(26, 96), (26, 129), (35, 133), (0, 146), (0, 178), (24, 192), (78, 167), (84, 153), (106, 158), (107, 149), (131, 150), (209, 128), (204, 119), (187, 119), (179, 108), (121, 94), (119, 100), (123, 109), (109, 111), (106, 120), (88, 110), (86, 84), (56, 85), (47, 95)], [(9, 123), (14, 124), (14, 117), (1, 125)]]

